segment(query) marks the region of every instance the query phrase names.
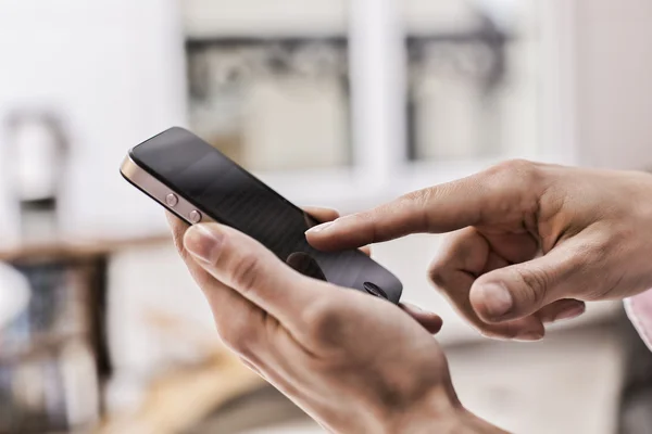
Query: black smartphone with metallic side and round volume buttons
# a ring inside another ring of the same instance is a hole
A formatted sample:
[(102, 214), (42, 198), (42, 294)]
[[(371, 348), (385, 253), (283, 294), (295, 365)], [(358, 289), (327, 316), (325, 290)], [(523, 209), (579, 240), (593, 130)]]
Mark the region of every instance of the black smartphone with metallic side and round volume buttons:
[(390, 271), (358, 250), (312, 247), (305, 231), (321, 221), (184, 128), (129, 150), (121, 174), (189, 225), (230, 226), (303, 275), (399, 303), (403, 285)]

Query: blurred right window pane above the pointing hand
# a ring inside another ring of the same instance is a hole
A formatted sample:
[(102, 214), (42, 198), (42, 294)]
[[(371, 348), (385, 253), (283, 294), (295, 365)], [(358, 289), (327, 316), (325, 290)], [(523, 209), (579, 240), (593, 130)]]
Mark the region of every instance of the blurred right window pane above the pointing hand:
[(535, 16), (534, 1), (406, 2), (412, 159), (536, 151)]

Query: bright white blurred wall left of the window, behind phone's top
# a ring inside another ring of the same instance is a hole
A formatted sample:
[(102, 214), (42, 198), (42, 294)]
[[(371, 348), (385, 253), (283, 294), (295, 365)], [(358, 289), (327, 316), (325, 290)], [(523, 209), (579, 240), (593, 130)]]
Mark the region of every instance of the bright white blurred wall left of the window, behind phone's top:
[[(0, 118), (29, 104), (66, 116), (73, 144), (67, 231), (108, 235), (127, 222), (140, 231), (152, 219), (163, 227), (160, 210), (117, 170), (129, 146), (185, 124), (175, 9), (173, 0), (0, 0)], [(0, 182), (0, 191), (7, 187)], [(0, 213), (0, 235), (11, 231), (11, 218)]]

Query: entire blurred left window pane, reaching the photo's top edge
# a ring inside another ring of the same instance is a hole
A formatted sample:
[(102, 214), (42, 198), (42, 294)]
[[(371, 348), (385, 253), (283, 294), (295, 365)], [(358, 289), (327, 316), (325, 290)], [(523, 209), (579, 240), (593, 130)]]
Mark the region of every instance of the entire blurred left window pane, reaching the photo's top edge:
[(346, 2), (220, 3), (185, 5), (191, 128), (253, 170), (349, 165)]

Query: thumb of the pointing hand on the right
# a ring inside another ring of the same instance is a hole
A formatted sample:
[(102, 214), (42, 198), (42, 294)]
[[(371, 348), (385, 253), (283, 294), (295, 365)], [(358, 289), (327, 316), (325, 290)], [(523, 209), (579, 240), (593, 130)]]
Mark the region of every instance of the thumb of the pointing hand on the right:
[(482, 275), (471, 288), (469, 302), (486, 322), (524, 318), (586, 284), (586, 266), (573, 248), (557, 247), (527, 263)]

